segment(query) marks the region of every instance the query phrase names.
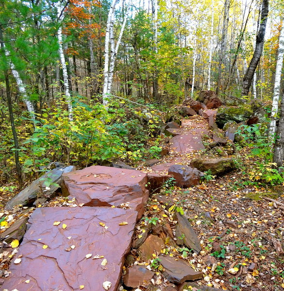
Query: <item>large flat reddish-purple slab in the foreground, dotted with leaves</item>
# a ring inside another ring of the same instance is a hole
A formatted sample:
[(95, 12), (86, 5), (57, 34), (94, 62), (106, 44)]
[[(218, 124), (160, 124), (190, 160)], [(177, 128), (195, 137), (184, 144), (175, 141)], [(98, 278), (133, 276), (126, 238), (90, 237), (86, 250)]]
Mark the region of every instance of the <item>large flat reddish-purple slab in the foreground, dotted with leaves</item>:
[[(110, 291), (116, 291), (136, 217), (135, 210), (109, 207), (34, 210), (29, 220), (32, 225), (16, 255), (22, 256), (21, 262), (11, 264), (11, 275), (1, 290), (77, 291), (84, 285), (84, 291), (104, 291), (103, 282), (110, 281)], [(54, 226), (55, 221), (61, 223)], [(119, 226), (124, 221), (128, 224)], [(103, 258), (92, 259), (96, 255), (104, 256), (108, 263), (103, 266)]]

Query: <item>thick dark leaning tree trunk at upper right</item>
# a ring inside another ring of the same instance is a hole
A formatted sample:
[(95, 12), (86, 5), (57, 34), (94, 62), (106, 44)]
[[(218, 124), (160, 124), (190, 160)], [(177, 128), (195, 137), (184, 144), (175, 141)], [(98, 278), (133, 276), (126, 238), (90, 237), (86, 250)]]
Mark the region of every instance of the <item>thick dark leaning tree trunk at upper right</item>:
[(262, 54), (267, 16), (268, 16), (268, 0), (262, 0), (261, 20), (260, 20), (259, 30), (256, 36), (255, 49), (254, 49), (251, 63), (243, 79), (243, 87), (242, 87), (243, 96), (248, 96), (249, 94), (250, 87), (252, 84), (253, 74), (255, 72), (256, 66)]

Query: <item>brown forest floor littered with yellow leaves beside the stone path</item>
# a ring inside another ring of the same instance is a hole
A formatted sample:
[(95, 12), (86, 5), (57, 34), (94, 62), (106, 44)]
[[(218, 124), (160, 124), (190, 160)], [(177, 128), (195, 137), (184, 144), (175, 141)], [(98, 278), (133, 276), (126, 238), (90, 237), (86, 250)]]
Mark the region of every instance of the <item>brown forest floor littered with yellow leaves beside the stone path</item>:
[[(200, 116), (194, 118), (199, 122)], [(172, 152), (162, 158), (159, 164), (174, 162), (177, 158), (189, 163), (190, 159), (201, 154), (203, 153)], [(251, 158), (248, 159), (246, 148), (238, 152), (238, 158), (244, 167), (250, 168), (253, 161)], [(151, 171), (142, 165), (138, 169)], [(243, 189), (240, 185), (242, 175), (240, 170), (236, 170), (191, 188), (163, 187), (161, 193), (150, 196), (144, 218), (159, 217), (159, 222), (166, 221), (174, 230), (173, 215), (165, 205), (158, 203), (157, 197), (162, 194), (167, 195), (177, 206), (183, 208), (202, 245), (199, 255), (186, 250), (188, 253), (186, 259), (195, 270), (204, 273), (204, 278), (199, 280), (202, 285), (222, 290), (284, 291), (284, 257), (279, 253), (279, 243), (284, 240), (283, 187), (275, 187), (273, 190), (255, 187)], [(15, 207), (11, 211), (3, 209), (11, 195), (6, 192), (0, 197), (0, 219), (4, 216), (10, 217), (8, 221), (6, 220), (10, 226), (23, 211), (22, 207)], [(264, 198), (268, 196), (275, 198), (282, 205)], [(74, 207), (74, 201), (55, 197), (47, 204), (39, 205), (39, 207), (54, 206)], [(26, 209), (28, 212), (25, 215), (28, 216), (32, 209)], [(159, 215), (161, 210), (165, 215)], [(140, 235), (142, 225), (144, 225), (143, 219), (136, 226), (137, 237)], [(2, 248), (0, 275), (4, 276), (7, 274), (15, 249), (2, 242), (0, 247)], [(182, 258), (183, 251), (179, 247), (167, 245), (167, 252)], [(149, 263), (142, 262), (135, 251), (132, 251), (132, 254), (138, 263)], [(217, 259), (217, 265), (212, 267), (205, 264), (203, 258), (209, 254), (213, 254)], [(169, 285), (169, 282), (158, 272), (154, 280), (158, 285), (155, 290), (163, 291)], [(153, 290), (149, 286), (146, 286), (145, 290)]]

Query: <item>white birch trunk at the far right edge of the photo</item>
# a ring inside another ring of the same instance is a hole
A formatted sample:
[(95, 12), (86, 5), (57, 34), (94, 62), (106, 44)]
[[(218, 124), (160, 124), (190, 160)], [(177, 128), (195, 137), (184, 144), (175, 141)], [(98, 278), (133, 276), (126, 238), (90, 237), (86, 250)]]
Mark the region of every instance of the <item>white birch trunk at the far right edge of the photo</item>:
[(270, 122), (270, 128), (269, 128), (270, 137), (273, 137), (276, 131), (276, 119), (277, 119), (277, 113), (278, 113), (283, 57), (284, 57), (284, 23), (282, 24), (282, 28), (281, 28), (281, 32), (279, 36), (279, 48), (278, 48), (278, 56), (277, 56), (277, 63), (276, 63), (276, 70), (275, 70), (275, 83), (274, 83), (272, 109), (271, 109), (271, 122)]

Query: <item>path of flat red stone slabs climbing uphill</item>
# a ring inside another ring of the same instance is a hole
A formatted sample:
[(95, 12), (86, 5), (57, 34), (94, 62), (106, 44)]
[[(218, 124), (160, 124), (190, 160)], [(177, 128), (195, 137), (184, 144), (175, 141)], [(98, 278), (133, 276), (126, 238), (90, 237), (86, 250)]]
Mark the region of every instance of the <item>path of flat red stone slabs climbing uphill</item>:
[[(183, 120), (170, 140), (171, 155), (160, 167), (182, 163), (203, 149), (206, 123), (197, 115)], [(170, 157), (175, 161), (167, 162)], [(63, 193), (67, 191), (80, 207), (47, 207), (32, 213), (2, 290), (99, 291), (105, 281), (111, 282), (110, 290), (117, 289), (135, 223), (148, 198), (146, 174), (92, 166), (63, 176)]]

